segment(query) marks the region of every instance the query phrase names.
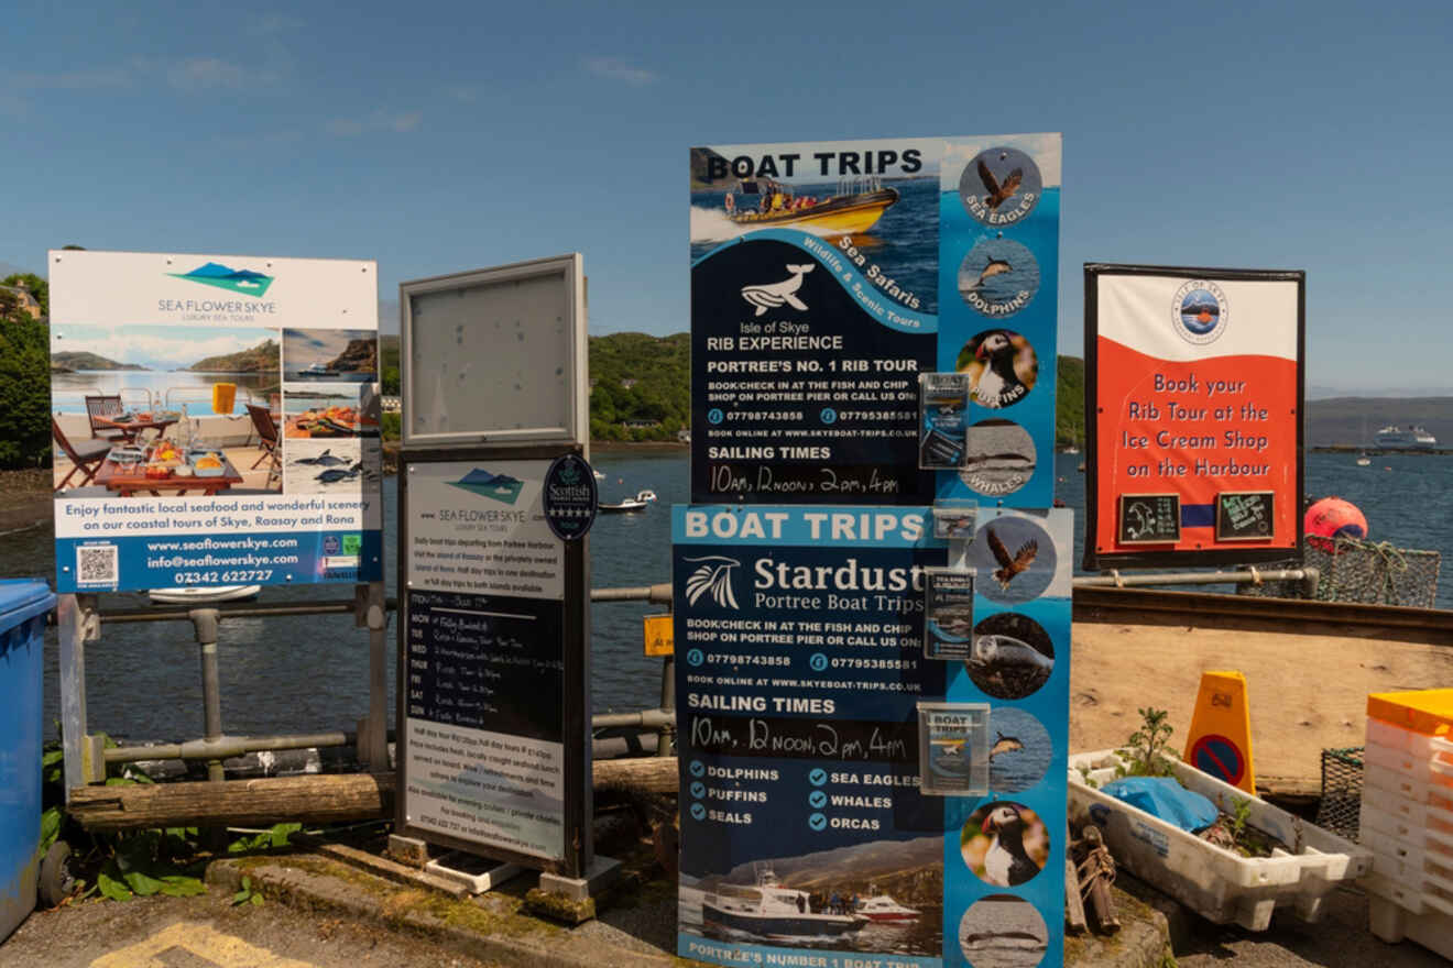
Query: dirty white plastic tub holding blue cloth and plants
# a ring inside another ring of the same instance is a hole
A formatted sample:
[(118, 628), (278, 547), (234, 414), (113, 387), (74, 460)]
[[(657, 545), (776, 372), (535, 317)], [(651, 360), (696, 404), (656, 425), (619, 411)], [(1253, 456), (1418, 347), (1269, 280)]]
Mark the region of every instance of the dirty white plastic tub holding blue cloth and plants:
[(1270, 858), (1244, 858), (1091, 788), (1080, 772), (1084, 766), (1090, 779), (1104, 785), (1114, 779), (1119, 762), (1113, 750), (1069, 758), (1071, 820), (1096, 823), (1117, 864), (1210, 922), (1266, 930), (1279, 907), (1315, 922), (1322, 900), (1338, 882), (1372, 871), (1372, 852), (1366, 848), (1186, 763), (1173, 760), (1181, 785), (1219, 801), (1223, 811), (1232, 810), (1235, 800), (1250, 800), (1250, 826), (1293, 846), (1300, 837), (1302, 853), (1277, 849)]

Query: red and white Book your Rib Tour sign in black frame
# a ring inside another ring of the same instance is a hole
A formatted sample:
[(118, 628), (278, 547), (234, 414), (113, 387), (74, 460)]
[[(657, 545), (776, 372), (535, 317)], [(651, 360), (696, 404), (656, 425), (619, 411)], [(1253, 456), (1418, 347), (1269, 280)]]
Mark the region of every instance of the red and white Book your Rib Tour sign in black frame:
[(1300, 271), (1085, 266), (1085, 567), (1302, 546)]

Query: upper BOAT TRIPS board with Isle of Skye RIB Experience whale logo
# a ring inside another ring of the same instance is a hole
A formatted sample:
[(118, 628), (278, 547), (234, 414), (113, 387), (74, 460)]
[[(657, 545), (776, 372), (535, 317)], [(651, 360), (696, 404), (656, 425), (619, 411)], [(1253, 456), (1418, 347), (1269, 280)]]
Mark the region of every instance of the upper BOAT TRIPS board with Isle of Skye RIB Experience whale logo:
[[(693, 501), (1052, 502), (1058, 135), (690, 167)], [(936, 372), (962, 403), (923, 431)]]

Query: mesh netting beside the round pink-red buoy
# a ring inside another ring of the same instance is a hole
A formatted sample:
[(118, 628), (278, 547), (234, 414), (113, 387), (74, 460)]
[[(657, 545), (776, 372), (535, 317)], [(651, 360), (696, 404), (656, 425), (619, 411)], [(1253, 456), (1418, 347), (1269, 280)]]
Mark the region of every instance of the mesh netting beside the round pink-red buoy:
[[(1300, 565), (1321, 572), (1315, 595), (1308, 595), (1302, 582), (1263, 582), (1241, 585), (1237, 591), (1267, 598), (1433, 608), (1443, 556), (1438, 551), (1399, 549), (1391, 541), (1308, 538)], [(1296, 566), (1287, 562), (1283, 567)]]

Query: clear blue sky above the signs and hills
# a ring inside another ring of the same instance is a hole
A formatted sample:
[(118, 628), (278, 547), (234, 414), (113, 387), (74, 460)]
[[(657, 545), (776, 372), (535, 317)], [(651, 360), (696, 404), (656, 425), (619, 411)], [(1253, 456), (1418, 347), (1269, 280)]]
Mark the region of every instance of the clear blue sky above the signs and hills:
[[(584, 253), (687, 329), (687, 148), (1064, 132), (1084, 261), (1305, 268), (1311, 392), (1453, 393), (1446, 3), (7, 6), (0, 268), (87, 248)], [(385, 319), (397, 329), (397, 319)]]

